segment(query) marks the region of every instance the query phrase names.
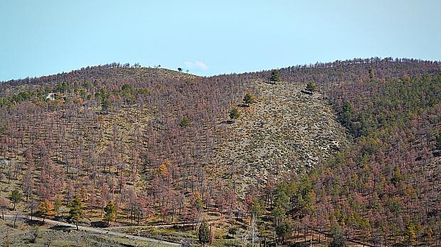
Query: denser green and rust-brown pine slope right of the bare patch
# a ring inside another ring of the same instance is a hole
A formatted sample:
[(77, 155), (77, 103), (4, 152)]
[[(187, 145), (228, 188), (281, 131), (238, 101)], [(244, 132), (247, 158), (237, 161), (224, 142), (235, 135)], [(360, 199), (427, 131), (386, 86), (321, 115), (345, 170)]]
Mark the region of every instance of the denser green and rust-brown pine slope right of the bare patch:
[(255, 198), (274, 197), (273, 214), (292, 216), (305, 232), (333, 229), (374, 244), (435, 244), (441, 232), (441, 74), (368, 83), (378, 85), (376, 93), (335, 105), (354, 144), (310, 172), (254, 192)]

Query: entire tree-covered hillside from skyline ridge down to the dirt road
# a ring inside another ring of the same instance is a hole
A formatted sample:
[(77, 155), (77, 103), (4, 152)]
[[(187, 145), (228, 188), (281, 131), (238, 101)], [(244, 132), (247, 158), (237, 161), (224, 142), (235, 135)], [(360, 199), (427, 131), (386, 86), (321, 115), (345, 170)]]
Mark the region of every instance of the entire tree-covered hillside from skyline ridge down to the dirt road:
[(114, 63), (1, 82), (0, 96), (2, 210), (213, 221), (218, 245), (239, 244), (228, 227), (250, 243), (441, 241), (440, 62), (214, 77)]

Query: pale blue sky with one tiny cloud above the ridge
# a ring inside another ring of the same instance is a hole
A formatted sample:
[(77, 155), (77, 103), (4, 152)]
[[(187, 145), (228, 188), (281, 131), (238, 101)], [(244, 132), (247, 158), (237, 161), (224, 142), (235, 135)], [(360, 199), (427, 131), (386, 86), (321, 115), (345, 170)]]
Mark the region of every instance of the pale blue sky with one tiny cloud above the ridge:
[(354, 57), (441, 60), (440, 30), (440, 0), (0, 0), (0, 80), (109, 62), (216, 75)]

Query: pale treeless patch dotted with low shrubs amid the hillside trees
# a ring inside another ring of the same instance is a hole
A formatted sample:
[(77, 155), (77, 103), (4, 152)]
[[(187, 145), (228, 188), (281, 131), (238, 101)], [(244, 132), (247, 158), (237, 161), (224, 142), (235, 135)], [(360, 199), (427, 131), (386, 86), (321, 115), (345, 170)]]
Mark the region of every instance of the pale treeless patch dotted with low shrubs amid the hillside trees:
[(225, 178), (253, 185), (312, 167), (346, 146), (344, 128), (322, 94), (304, 94), (304, 87), (255, 82), (256, 103), (240, 107), (240, 119), (225, 124), (227, 138), (211, 160)]

